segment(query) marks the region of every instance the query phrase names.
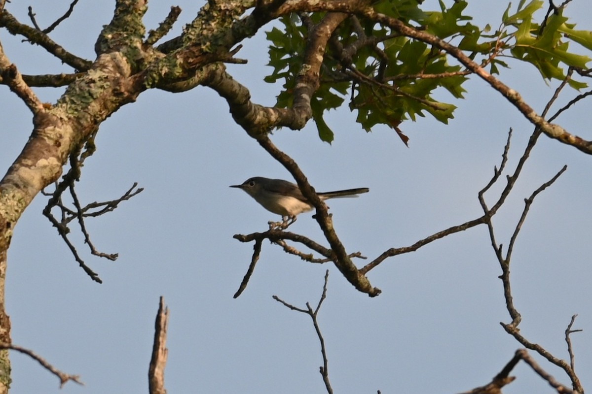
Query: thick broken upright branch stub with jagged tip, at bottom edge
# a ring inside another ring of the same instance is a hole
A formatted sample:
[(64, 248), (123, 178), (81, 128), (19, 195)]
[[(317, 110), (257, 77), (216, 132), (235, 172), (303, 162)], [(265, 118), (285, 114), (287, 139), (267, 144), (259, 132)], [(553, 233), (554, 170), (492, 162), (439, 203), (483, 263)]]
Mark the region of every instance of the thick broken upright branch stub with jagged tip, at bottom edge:
[(166, 330), (169, 325), (169, 308), (165, 307), (165, 298), (160, 297), (156, 314), (154, 345), (152, 359), (148, 370), (148, 385), (150, 394), (166, 394), (165, 366), (169, 350), (166, 349)]

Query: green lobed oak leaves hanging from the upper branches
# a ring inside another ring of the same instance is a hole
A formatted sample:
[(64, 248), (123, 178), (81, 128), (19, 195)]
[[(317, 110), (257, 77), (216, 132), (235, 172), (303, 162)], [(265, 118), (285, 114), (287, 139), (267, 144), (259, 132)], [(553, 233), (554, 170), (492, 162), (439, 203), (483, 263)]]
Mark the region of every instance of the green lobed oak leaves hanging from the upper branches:
[[(468, 3), (458, 0), (448, 6), (439, 1), (439, 10), (424, 11), (417, 0), (380, 0), (375, 11), (397, 18), (406, 25), (425, 31), (456, 45), (473, 60), (479, 58), (482, 67), (499, 73), (498, 67), (509, 67), (500, 57), (526, 61), (539, 70), (545, 80), (565, 79), (564, 67), (585, 69), (590, 58), (570, 52), (570, 41), (592, 50), (592, 32), (575, 30), (562, 15), (562, 8), (549, 12), (541, 23), (533, 14), (543, 6), (542, 0), (529, 4), (520, 1), (514, 14), (511, 4), (501, 15), (500, 27), (490, 33), (490, 25), (480, 28), (464, 14)], [(292, 105), (292, 92), (298, 73), (303, 67), (308, 32), (325, 14), (291, 14), (279, 19), (282, 28), (267, 33), (269, 63), (272, 73), (266, 82), (283, 82), (276, 105)], [(326, 110), (339, 108), (349, 97), (349, 108), (357, 113), (357, 122), (365, 131), (378, 124), (397, 131), (408, 119), (429, 114), (447, 123), (456, 106), (435, 98), (436, 90), (444, 89), (455, 99), (461, 99), (462, 84), (469, 74), (451, 56), (423, 41), (406, 37), (388, 26), (352, 15), (333, 36), (323, 60), (320, 87), (311, 98), (313, 119), (321, 140), (331, 142), (333, 130), (323, 120)], [(581, 89), (583, 82), (569, 81)], [(440, 97), (440, 96), (439, 96)]]

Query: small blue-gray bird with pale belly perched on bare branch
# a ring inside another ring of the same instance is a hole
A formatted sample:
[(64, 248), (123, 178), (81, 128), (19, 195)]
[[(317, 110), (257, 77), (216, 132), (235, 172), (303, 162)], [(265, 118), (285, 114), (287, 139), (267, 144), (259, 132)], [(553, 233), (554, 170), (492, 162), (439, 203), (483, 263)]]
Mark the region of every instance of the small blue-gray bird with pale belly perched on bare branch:
[[(281, 215), (284, 221), (287, 218), (296, 220), (296, 215), (313, 210), (313, 205), (303, 196), (297, 184), (281, 179), (269, 179), (263, 177), (249, 178), (240, 185), (231, 185), (246, 191), (249, 196), (255, 198), (259, 204), (268, 211)], [(358, 194), (368, 193), (367, 187), (328, 191), (317, 193), (321, 200), (336, 197), (358, 197)]]

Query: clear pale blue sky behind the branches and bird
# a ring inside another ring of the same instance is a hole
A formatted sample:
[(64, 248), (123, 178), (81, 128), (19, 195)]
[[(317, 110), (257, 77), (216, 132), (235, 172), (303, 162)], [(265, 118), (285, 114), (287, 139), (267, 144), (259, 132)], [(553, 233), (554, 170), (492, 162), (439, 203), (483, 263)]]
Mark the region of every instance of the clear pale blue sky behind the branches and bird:
[[(505, 4), (482, 3), (471, 2), (467, 14), (475, 15), (478, 25), (497, 26)], [(47, 25), (69, 2), (30, 4), (41, 25)], [(81, 2), (52, 38), (92, 59), (101, 25), (111, 19), (113, 5), (105, 4)], [(156, 27), (170, 5), (179, 5), (178, 32), (201, 4), (152, 2), (147, 27)], [(27, 5), (12, 2), (7, 8), (25, 21)], [(437, 9), (437, 2), (428, 0), (424, 6)], [(586, 2), (573, 1), (567, 15), (579, 28), (592, 30)], [(249, 64), (230, 65), (229, 72), (249, 87), (255, 102), (273, 105), (278, 87), (262, 82), (271, 72), (265, 67), (264, 37), (262, 31), (246, 41), (239, 57)], [(5, 32), (0, 38), (22, 73), (69, 71), (20, 38)], [(511, 67), (501, 79), (540, 113), (556, 84), (545, 84), (533, 67), (516, 62)], [(478, 217), (477, 191), (499, 165), (510, 127), (513, 170), (532, 126), (481, 80), (471, 77), (465, 88), (465, 100), (439, 93), (459, 107), (449, 125), (430, 118), (401, 125), (410, 137), (408, 148), (390, 129), (362, 131), (347, 108), (327, 116), (336, 131), (332, 145), (317, 138), (313, 124), (303, 131), (274, 133), (274, 143), (300, 164), (317, 190), (370, 188), (360, 198), (329, 204), (348, 250), (373, 259), (388, 248), (411, 245)], [(62, 90), (36, 92), (54, 102)], [(575, 95), (565, 93), (562, 102)], [(0, 103), (0, 167), (8, 168), (30, 135), (31, 117), (6, 87), (0, 89)], [(592, 139), (585, 102), (558, 123)], [(319, 324), (335, 392), (461, 392), (488, 383), (520, 348), (499, 325), (510, 318), (484, 226), (382, 263), (368, 275), (383, 291), (377, 298), (357, 292), (332, 265), (311, 265), (263, 243), (249, 286), (233, 299), (252, 245), (232, 236), (265, 230), (268, 220), (277, 218), (228, 186), (253, 175), (289, 179), (289, 174), (233, 123), (224, 100), (207, 88), (178, 95), (143, 93), (104, 122), (96, 144), (77, 185), (82, 201), (110, 200), (134, 182), (144, 187), (114, 213), (87, 223), (95, 246), (120, 253), (117, 261), (92, 258), (82, 237), (73, 235), (104, 283), (95, 284), (78, 268), (41, 215), (43, 196), (18, 223), (7, 275), (14, 343), (81, 375), (86, 385), (68, 383), (60, 390), (56, 377), (12, 353), (12, 393), (146, 392), (161, 295), (170, 308), (169, 392), (322, 393), (322, 360), (310, 318), (282, 307), (272, 295), (301, 307), (307, 301), (316, 304), (326, 269), (329, 289)], [(498, 242), (507, 245), (523, 198), (564, 164), (567, 172), (536, 198), (517, 240), (513, 295), (523, 317), (522, 334), (558, 357), (568, 357), (565, 327), (572, 314), (579, 314), (574, 328), (584, 331), (572, 341), (576, 371), (587, 387), (592, 382), (592, 159), (543, 136), (494, 224)], [(489, 201), (500, 190), (494, 187)], [(310, 216), (302, 214), (290, 229), (322, 240)], [(539, 362), (569, 383), (559, 369)], [(513, 375), (517, 380), (506, 394), (552, 392), (523, 364)]]

